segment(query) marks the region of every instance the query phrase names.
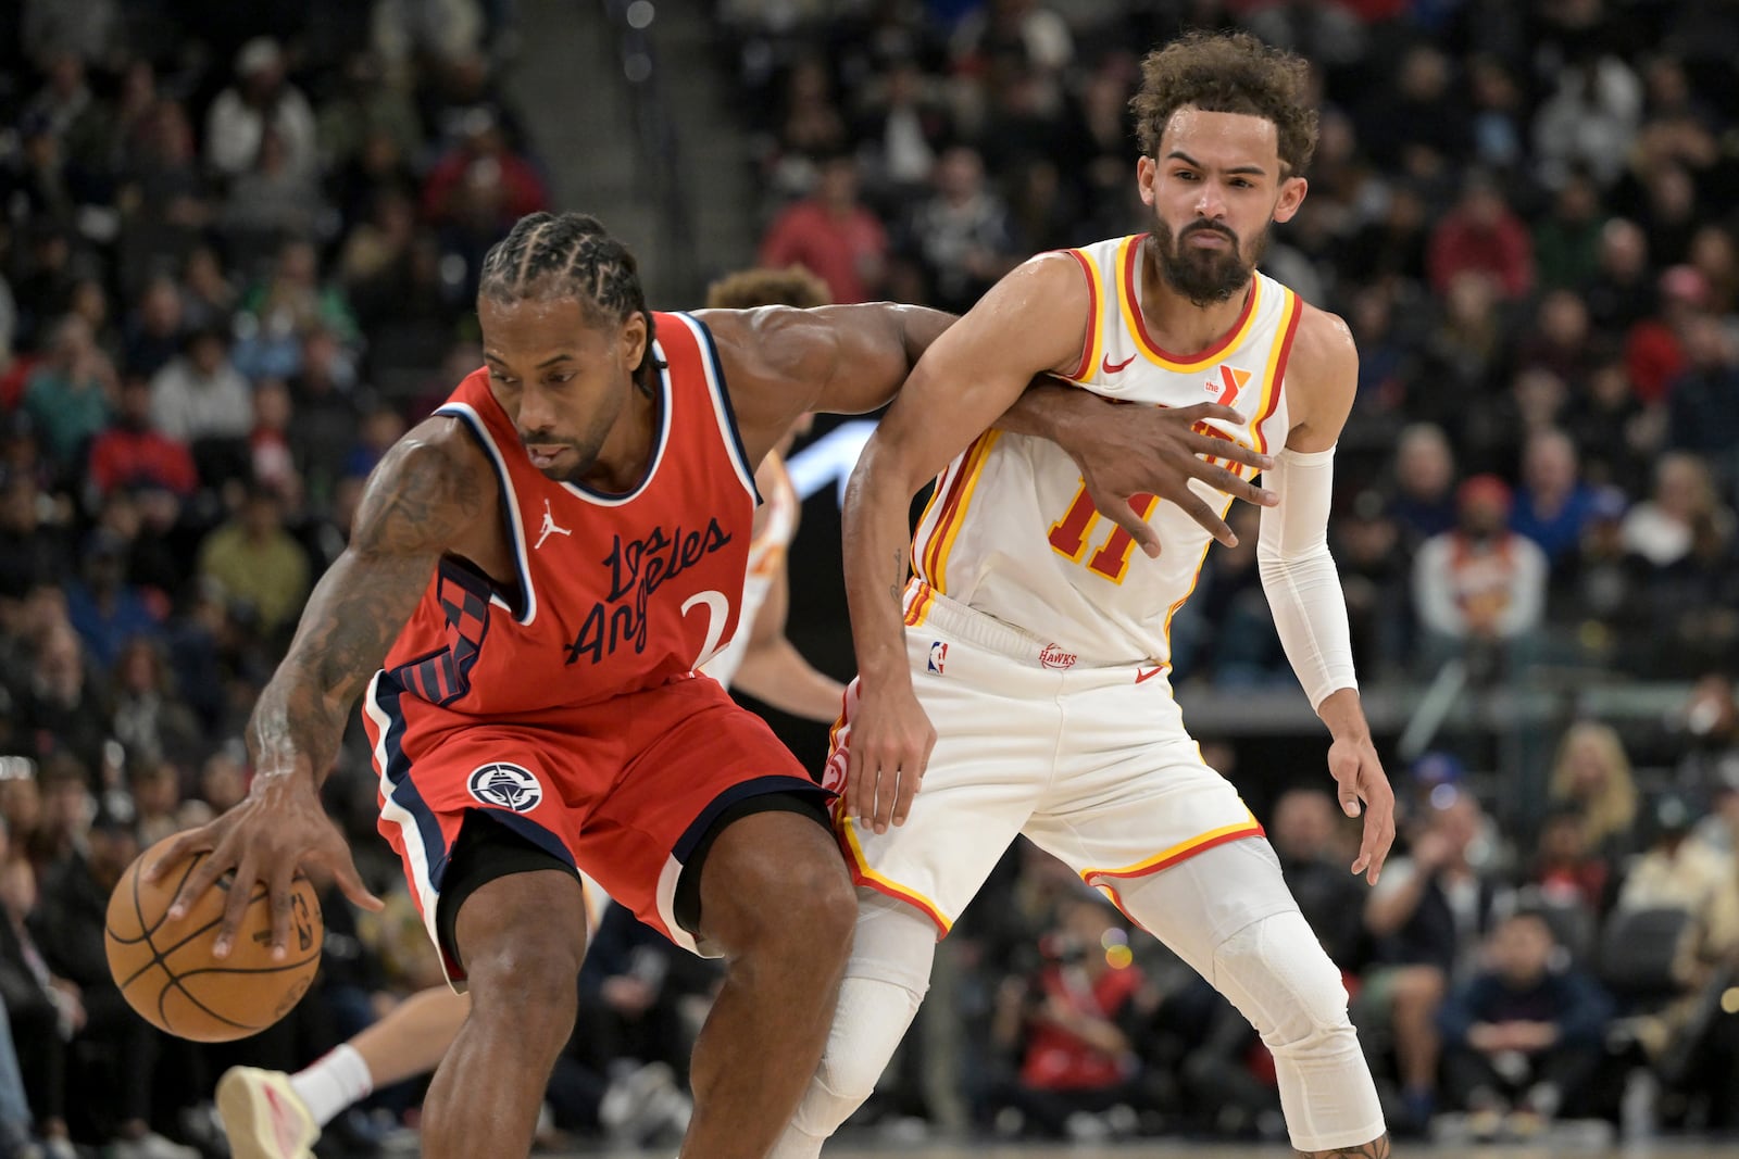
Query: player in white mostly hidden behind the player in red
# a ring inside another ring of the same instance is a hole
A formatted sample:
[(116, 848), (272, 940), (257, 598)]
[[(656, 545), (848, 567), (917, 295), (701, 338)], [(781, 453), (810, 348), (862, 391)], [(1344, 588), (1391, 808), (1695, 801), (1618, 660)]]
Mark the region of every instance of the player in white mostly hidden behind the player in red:
[[(710, 309), (826, 304), (826, 283), (800, 266), (746, 269), (713, 283), (706, 294)], [(843, 686), (816, 671), (784, 634), (786, 551), (800, 514), (784, 454), (803, 426), (807, 419), (755, 471), (755, 488), (763, 502), (755, 513), (755, 539), (743, 582), (743, 627), (701, 671), (783, 712), (830, 725), (840, 714)], [(541, 533), (567, 532), (553, 527), (551, 520)], [(609, 897), (590, 879), (584, 884), (586, 914), (595, 930)], [(344, 1109), (379, 1088), (435, 1070), (470, 1008), (468, 994), (438, 985), (412, 994), (297, 1074), (256, 1067), (224, 1072), (217, 1083), (217, 1114), (233, 1159), (308, 1159), (320, 1128)]]

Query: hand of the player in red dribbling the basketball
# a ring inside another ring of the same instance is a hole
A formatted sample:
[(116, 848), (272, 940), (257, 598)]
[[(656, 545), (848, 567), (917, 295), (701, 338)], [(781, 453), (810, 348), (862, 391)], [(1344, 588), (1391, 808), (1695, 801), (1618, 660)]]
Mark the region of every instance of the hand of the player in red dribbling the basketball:
[(325, 865), (344, 897), (363, 909), (383, 909), (381, 898), (362, 884), (350, 846), (320, 806), (320, 796), (306, 777), (256, 777), (240, 805), (210, 824), (176, 838), (157, 862), (143, 869), (143, 878), (157, 881), (163, 867), (193, 853), (209, 857), (188, 874), (181, 891), (176, 893), (169, 907), (170, 921), (186, 914), (195, 898), (212, 888), (224, 872), (235, 871), (223, 921), (217, 924), (217, 940), (212, 944), (214, 957), (228, 956), (235, 945), (256, 881), (266, 883), (271, 900), (271, 956), (282, 959), (289, 954), (290, 884), (301, 864)]

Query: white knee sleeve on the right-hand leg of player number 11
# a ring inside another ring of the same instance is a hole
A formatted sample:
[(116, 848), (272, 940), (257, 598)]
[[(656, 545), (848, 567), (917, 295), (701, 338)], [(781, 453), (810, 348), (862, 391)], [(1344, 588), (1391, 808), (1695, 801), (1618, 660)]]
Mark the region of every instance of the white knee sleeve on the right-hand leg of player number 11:
[(1296, 1149), (1355, 1147), (1383, 1135), (1383, 1107), (1346, 1017), (1341, 971), (1303, 914), (1263, 917), (1221, 942), (1210, 980), (1275, 1056)]

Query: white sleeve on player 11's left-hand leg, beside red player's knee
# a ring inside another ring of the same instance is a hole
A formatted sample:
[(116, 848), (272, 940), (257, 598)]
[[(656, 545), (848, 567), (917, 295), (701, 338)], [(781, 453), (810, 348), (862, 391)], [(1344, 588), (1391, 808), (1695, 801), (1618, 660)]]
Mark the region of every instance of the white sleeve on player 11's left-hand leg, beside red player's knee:
[(814, 1159), (875, 1091), (930, 985), (936, 924), (903, 902), (859, 891), (857, 933), (821, 1065), (769, 1159)]

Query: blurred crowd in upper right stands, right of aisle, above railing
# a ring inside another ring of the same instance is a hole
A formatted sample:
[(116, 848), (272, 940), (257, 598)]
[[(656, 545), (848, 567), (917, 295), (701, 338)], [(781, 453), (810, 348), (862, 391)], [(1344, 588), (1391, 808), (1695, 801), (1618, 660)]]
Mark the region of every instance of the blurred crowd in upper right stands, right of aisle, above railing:
[[(1322, 142), (1263, 266), (1360, 346), (1334, 528), (1360, 671), (1732, 666), (1730, 3), (718, 7), (762, 261), (953, 311), (1029, 254), (1146, 228), (1127, 103), (1149, 45), (1245, 26), (1306, 54)], [(1177, 619), (1179, 672), (1290, 681), (1242, 540)]]

